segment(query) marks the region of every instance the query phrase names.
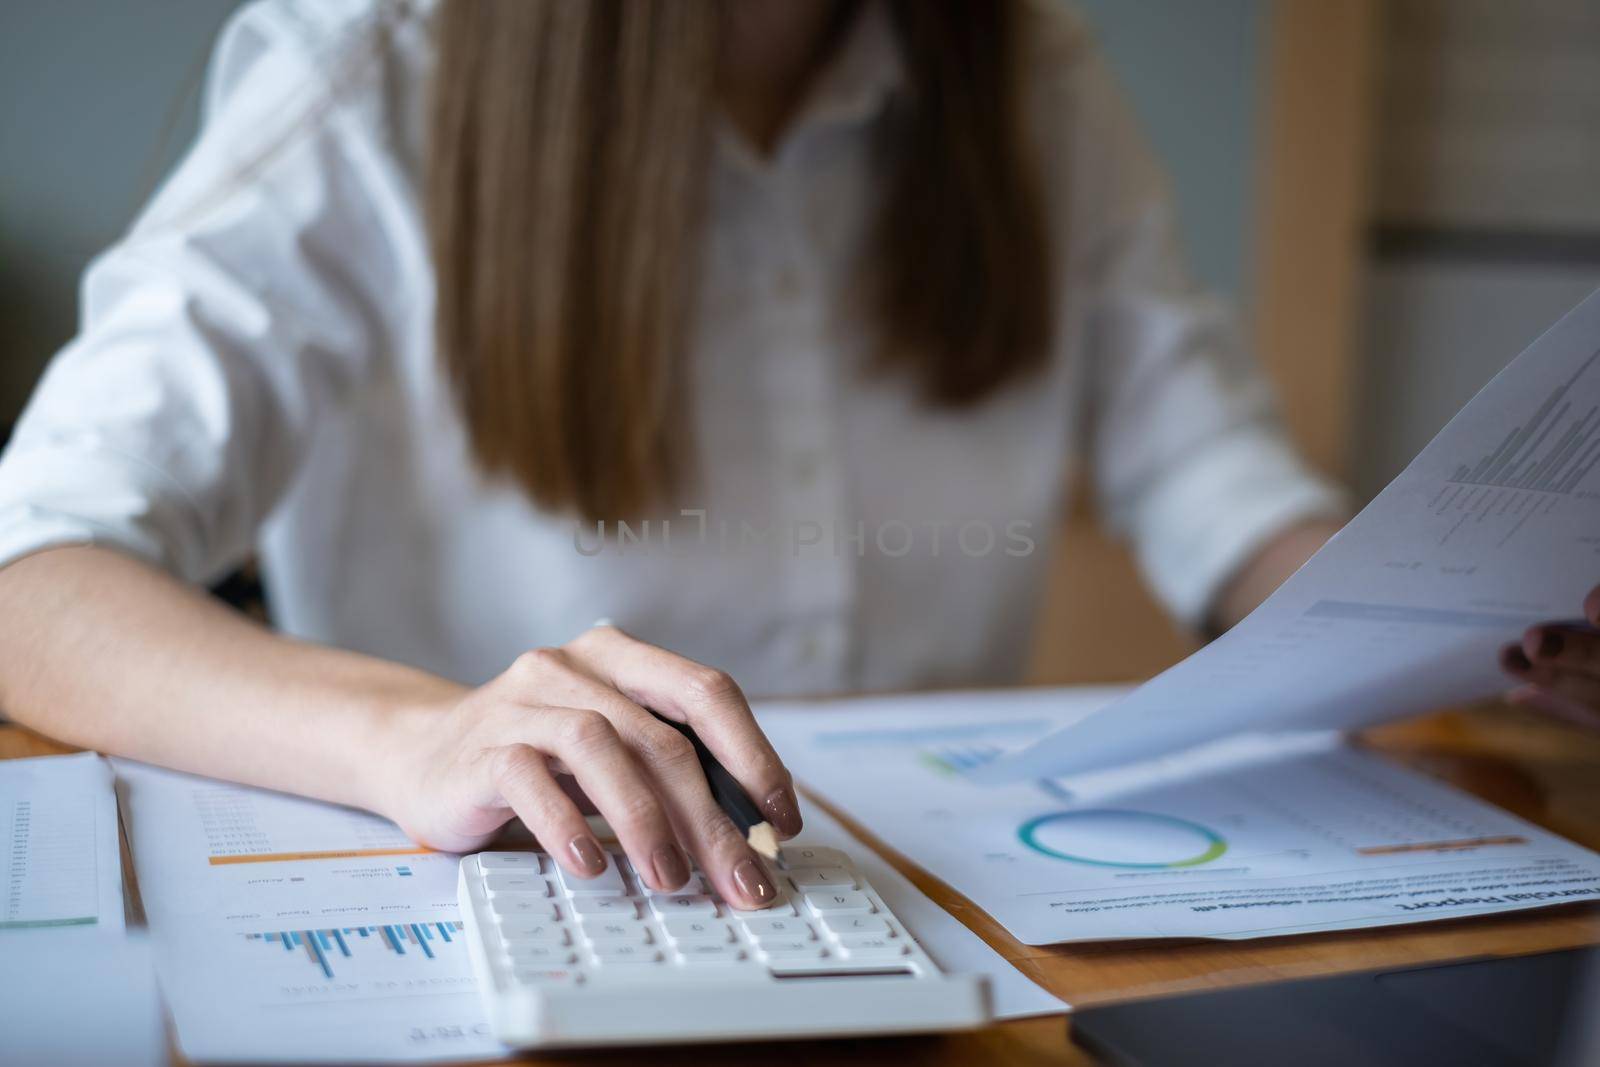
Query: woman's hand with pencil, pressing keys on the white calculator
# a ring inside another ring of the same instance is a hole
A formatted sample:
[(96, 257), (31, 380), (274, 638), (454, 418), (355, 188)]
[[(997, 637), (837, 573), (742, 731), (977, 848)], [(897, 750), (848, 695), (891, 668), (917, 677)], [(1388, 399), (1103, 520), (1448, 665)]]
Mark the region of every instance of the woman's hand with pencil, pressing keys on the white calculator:
[(402, 715), (382, 808), (448, 851), (480, 848), (518, 816), (562, 867), (594, 877), (605, 853), (557, 777), (571, 774), (650, 886), (688, 881), (686, 849), (726, 901), (771, 904), (771, 880), (712, 800), (693, 745), (646, 707), (693, 726), (773, 829), (798, 833), (794, 782), (739, 686), (611, 625), (520, 656), (451, 707)]

